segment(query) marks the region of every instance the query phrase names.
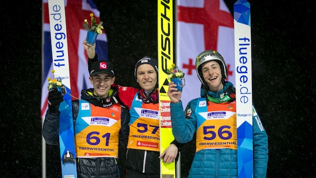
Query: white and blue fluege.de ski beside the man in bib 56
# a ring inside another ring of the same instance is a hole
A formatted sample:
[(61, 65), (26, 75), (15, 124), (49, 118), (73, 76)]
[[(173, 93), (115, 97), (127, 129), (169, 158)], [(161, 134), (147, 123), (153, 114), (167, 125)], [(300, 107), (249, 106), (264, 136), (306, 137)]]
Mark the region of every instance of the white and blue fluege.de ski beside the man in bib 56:
[(253, 177), (250, 3), (234, 3), (238, 177)]

